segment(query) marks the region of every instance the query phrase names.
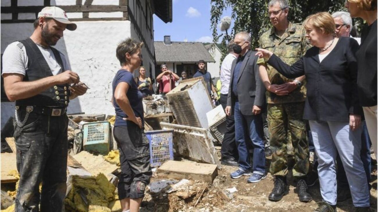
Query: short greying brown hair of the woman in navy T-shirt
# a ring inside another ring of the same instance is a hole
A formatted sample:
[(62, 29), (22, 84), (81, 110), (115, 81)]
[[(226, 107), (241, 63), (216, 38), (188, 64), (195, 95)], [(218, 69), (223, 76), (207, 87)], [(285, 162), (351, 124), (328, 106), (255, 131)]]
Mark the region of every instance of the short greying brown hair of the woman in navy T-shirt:
[(121, 66), (127, 64), (126, 53), (129, 53), (130, 55), (135, 54), (135, 52), (140, 50), (142, 46), (143, 42), (133, 40), (133, 38), (126, 38), (121, 41), (116, 49), (116, 56)]

